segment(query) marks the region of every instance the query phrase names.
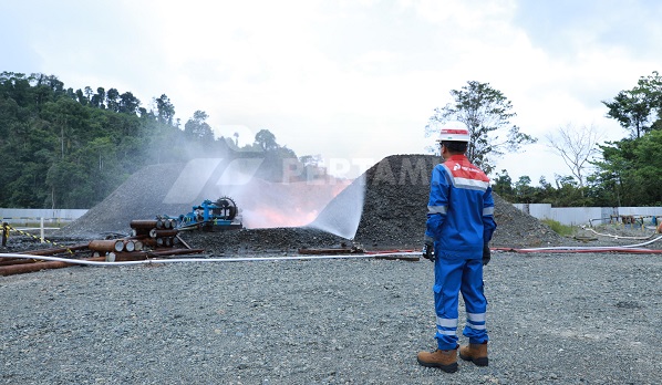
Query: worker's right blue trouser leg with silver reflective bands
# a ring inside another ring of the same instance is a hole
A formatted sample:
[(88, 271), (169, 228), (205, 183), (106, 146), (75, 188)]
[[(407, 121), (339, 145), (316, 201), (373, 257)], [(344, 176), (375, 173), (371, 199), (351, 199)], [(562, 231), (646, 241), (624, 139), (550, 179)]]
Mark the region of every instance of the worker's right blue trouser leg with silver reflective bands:
[(467, 322), (462, 334), (467, 336), (472, 344), (489, 341), (485, 323), (487, 300), (483, 291), (483, 261), (480, 259), (467, 260), (461, 291), (467, 313)]

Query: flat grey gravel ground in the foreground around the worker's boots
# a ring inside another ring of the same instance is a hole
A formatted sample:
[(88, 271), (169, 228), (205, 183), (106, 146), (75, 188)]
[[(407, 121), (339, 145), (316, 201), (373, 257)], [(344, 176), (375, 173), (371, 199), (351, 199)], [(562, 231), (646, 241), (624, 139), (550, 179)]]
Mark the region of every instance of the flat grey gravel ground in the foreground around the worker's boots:
[[(74, 267), (0, 278), (6, 384), (658, 384), (662, 259), (495, 253), (490, 364), (418, 366), (432, 263)], [(7, 300), (11, 299), (11, 300)], [(462, 326), (462, 325), (461, 325)]]

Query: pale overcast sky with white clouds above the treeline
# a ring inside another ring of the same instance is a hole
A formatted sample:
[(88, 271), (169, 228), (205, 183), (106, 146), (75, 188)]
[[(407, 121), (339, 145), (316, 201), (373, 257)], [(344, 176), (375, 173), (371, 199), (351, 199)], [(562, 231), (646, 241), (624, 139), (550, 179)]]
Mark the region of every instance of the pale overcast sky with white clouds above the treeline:
[(0, 0), (0, 71), (130, 91), (148, 108), (166, 94), (182, 124), (201, 110), (244, 143), (267, 128), (338, 171), (424, 153), (433, 110), (478, 81), (540, 138), (497, 170), (552, 180), (570, 170), (544, 136), (628, 136), (601, 101), (662, 71), (658, 0)]

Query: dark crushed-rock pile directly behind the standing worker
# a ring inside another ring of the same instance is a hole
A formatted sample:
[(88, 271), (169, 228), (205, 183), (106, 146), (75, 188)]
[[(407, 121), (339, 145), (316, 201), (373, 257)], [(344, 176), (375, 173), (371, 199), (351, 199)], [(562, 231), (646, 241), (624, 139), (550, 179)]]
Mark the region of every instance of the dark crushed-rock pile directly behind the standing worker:
[[(341, 210), (335, 206), (345, 206), (343, 200), (354, 196), (351, 189), (364, 184), (363, 215), (354, 240), (365, 247), (420, 247), (425, 232), (430, 177), (439, 162), (439, 157), (432, 155), (389, 156), (331, 201), (320, 219), (338, 216)], [(562, 237), (538, 219), (496, 194), (494, 199), (498, 228), (493, 246), (546, 247), (563, 242)]]

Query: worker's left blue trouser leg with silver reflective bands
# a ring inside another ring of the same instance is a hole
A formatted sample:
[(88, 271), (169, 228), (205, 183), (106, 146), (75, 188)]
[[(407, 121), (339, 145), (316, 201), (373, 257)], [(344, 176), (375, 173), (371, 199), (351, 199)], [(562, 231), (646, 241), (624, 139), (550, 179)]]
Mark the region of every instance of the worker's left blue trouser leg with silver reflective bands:
[(453, 350), (457, 346), (457, 295), (464, 263), (464, 260), (441, 258), (434, 263), (434, 305), (437, 315), (435, 339), (439, 350)]

